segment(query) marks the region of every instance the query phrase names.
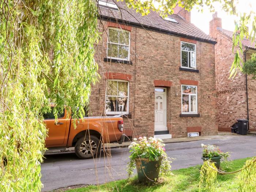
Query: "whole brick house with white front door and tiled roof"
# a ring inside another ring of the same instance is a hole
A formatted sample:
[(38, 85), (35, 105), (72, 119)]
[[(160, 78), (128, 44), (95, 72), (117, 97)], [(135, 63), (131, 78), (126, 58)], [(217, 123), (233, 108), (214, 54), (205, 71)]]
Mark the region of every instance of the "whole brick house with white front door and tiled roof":
[(122, 115), (133, 137), (217, 134), (216, 41), (180, 7), (163, 19), (156, 12), (143, 17), (124, 2), (99, 5), (101, 79), (89, 115)]

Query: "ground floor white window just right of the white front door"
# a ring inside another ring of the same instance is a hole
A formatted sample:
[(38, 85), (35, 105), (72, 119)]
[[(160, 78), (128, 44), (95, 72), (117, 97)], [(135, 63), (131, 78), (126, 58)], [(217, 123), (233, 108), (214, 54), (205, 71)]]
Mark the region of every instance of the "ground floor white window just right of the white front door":
[(197, 86), (181, 85), (181, 113), (197, 113)]

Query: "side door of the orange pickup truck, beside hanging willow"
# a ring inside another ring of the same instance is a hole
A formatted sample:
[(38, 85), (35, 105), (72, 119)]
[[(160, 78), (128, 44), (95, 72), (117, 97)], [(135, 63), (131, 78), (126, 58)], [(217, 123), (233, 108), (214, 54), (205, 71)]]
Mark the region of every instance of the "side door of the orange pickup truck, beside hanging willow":
[(45, 139), (45, 147), (64, 147), (65, 138), (68, 134), (69, 118), (67, 118), (67, 111), (63, 110), (63, 113), (58, 114), (57, 122), (53, 115), (53, 107), (49, 113), (44, 114), (44, 121), (46, 128), (48, 128), (48, 136)]

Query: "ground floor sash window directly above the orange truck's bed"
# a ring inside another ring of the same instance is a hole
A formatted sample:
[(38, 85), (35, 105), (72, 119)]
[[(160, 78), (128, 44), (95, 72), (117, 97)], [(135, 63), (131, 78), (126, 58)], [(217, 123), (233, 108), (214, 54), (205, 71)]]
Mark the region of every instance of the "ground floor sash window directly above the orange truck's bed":
[(129, 82), (108, 80), (106, 88), (106, 114), (129, 113)]

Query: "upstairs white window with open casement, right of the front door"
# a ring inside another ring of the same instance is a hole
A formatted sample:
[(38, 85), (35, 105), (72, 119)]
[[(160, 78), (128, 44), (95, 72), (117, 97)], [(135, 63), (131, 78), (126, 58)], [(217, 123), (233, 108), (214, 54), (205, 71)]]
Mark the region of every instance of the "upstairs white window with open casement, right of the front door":
[(181, 67), (196, 69), (196, 44), (181, 42)]

